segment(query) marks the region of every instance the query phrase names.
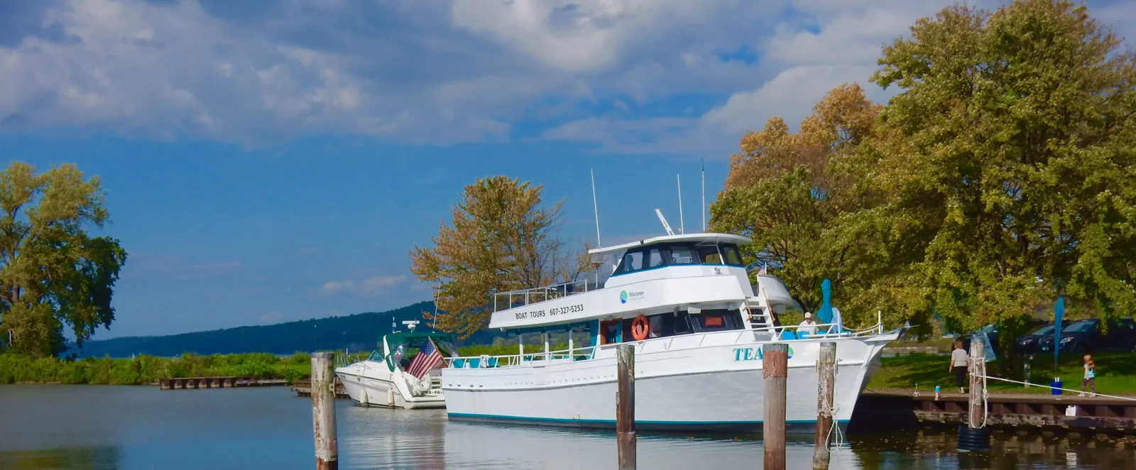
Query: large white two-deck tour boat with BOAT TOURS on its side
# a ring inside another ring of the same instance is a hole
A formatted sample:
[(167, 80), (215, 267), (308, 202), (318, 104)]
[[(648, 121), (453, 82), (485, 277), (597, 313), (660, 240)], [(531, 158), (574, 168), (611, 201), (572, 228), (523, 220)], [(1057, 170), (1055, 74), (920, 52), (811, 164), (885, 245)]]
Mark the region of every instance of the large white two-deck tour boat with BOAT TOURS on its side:
[[(877, 322), (850, 331), (834, 324), (797, 336), (796, 326), (776, 325), (772, 313), (796, 302), (775, 276), (750, 284), (737, 250), (746, 243), (744, 236), (700, 233), (596, 249), (591, 253), (617, 260), (602, 285), (595, 278), (495, 294), (490, 328), (542, 335), (544, 347), (525, 351), (521, 342), (515, 355), (446, 358), (449, 418), (612, 428), (616, 349), (630, 343), (637, 429), (760, 431), (762, 345), (779, 342), (790, 346), (786, 428), (811, 434), (817, 356), (820, 343), (832, 341), (835, 419), (846, 427), (882, 350), (900, 330), (885, 333)], [(574, 344), (568, 335), (567, 350), (550, 351), (554, 331), (587, 331), (591, 344)]]

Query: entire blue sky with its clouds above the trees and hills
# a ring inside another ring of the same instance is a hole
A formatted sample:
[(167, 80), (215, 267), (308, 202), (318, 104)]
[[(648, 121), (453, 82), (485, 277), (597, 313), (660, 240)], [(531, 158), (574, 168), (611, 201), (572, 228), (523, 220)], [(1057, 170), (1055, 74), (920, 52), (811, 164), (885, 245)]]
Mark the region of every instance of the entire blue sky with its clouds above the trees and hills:
[[(99, 176), (130, 253), (95, 339), (429, 300), (462, 186), (565, 199), (560, 235), (696, 230), (740, 137), (868, 82), (941, 0), (0, 1), (0, 157)], [(975, 2), (997, 7), (999, 1)], [(1136, 36), (1136, 1), (1091, 12)], [(1129, 41), (1126, 41), (1129, 43)]]

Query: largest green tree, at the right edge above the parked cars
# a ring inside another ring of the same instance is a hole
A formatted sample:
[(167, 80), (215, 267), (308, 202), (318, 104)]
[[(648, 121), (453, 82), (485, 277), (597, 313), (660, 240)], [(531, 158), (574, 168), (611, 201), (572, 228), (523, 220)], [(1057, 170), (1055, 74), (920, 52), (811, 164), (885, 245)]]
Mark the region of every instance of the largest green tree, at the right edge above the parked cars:
[(887, 47), (872, 77), (902, 92), (861, 154), (887, 194), (866, 219), (921, 252), (879, 285), (960, 330), (1001, 325), (1009, 370), (1021, 319), (1058, 295), (1136, 311), (1136, 61), (1119, 44), (1068, 1), (958, 6)]

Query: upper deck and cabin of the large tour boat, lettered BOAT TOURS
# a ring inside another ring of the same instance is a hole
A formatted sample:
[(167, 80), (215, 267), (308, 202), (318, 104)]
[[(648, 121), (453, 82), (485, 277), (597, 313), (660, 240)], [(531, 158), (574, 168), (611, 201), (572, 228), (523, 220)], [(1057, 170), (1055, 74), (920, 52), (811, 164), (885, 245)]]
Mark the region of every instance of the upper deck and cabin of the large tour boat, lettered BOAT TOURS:
[[(738, 250), (750, 242), (701, 233), (591, 250), (607, 259), (587, 279), (494, 294), (490, 328), (542, 335), (548, 351), (553, 333), (586, 331), (590, 344), (578, 346), (587, 347), (775, 326), (766, 310), (795, 302), (774, 276), (750, 284)], [(569, 350), (576, 336), (568, 335)]]

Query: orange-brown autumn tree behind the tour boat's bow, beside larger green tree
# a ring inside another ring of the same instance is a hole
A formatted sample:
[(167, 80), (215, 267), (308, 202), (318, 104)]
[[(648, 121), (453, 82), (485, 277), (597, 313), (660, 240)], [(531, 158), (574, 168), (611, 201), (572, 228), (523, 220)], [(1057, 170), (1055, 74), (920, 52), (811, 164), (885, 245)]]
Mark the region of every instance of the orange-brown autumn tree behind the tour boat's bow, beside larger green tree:
[(796, 134), (783, 119), (769, 119), (742, 137), (710, 208), (713, 229), (752, 237), (746, 258), (777, 268), (805, 309), (819, 305), (825, 278), (840, 285), (851, 254), (854, 243), (832, 229), (864, 195), (842, 161), (871, 135), (878, 111), (859, 85), (846, 84), (818, 102)]

